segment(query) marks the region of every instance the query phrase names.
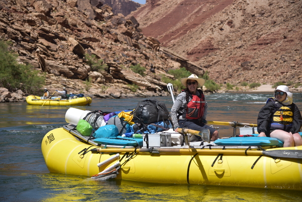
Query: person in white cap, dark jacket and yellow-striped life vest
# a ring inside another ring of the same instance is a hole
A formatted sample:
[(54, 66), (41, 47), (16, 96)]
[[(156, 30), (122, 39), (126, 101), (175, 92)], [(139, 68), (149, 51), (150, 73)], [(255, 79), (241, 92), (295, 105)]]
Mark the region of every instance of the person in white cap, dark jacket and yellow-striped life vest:
[(302, 117), (298, 107), (292, 102), (292, 93), (281, 85), (274, 91), (274, 98), (268, 98), (257, 118), (258, 137), (272, 137), (282, 141), (283, 147), (301, 146), (298, 133)]

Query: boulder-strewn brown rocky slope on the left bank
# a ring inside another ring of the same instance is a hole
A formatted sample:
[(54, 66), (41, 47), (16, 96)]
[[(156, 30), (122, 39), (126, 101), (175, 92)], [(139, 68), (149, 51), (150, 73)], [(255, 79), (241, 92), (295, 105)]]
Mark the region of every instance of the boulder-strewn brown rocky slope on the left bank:
[[(134, 17), (114, 15), (98, 0), (3, 0), (0, 38), (13, 42), (20, 62), (47, 73), (50, 93), (65, 86), (68, 93), (100, 98), (165, 96), (169, 92), (161, 78), (173, 78), (169, 69), (184, 66), (204, 73), (187, 58), (161, 48), (156, 38), (145, 37)], [(92, 71), (85, 54), (103, 59), (108, 71)], [(130, 69), (137, 64), (145, 67), (145, 76)], [(14, 100), (9, 97), (1, 100)]]

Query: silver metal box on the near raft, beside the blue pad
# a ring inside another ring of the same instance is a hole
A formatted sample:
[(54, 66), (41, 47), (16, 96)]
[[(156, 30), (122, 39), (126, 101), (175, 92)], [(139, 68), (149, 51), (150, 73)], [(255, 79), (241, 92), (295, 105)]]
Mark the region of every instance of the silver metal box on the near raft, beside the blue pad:
[(142, 146), (147, 147), (145, 142), (145, 136), (148, 136), (149, 147), (171, 147), (171, 134), (159, 133), (159, 134), (142, 134), (143, 142)]

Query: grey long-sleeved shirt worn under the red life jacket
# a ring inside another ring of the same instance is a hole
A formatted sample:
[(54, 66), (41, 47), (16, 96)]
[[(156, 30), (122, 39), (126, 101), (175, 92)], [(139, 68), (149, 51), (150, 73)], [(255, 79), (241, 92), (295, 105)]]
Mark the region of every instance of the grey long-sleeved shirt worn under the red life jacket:
[[(197, 96), (200, 96), (200, 93), (198, 91), (196, 91), (196, 95)], [(190, 97), (189, 98), (189, 102), (192, 100), (192, 98)], [(177, 119), (177, 112), (178, 110), (183, 107), (183, 109), (185, 110), (186, 108), (186, 105), (187, 105), (187, 101), (186, 101), (186, 92), (181, 92), (172, 108), (171, 108), (171, 118), (172, 118), (172, 122), (174, 124), (174, 127), (175, 128), (178, 128), (179, 127), (179, 124), (178, 124), (178, 119)], [(183, 112), (183, 111), (182, 111)], [(203, 112), (203, 116), (202, 116), (202, 119), (206, 119), (206, 115), (207, 115), (207, 103), (205, 102), (205, 105), (204, 105), (204, 112)], [(179, 117), (179, 119), (184, 119), (182, 116)]]

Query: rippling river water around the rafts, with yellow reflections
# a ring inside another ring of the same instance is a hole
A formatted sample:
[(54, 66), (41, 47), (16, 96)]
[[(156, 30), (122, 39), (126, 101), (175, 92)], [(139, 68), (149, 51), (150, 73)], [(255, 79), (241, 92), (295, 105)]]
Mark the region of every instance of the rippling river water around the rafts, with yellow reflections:
[[(256, 124), (258, 112), (268, 97), (272, 93), (206, 95), (207, 120)], [(164, 101), (169, 110), (173, 105), (170, 96), (93, 99), (90, 106), (75, 108), (122, 111), (135, 108), (144, 99)], [(302, 93), (294, 94), (294, 103), (302, 111)], [(1, 201), (302, 201), (302, 191), (94, 181), (86, 176), (50, 173), (41, 153), (41, 141), (49, 130), (66, 124), (68, 108), (0, 103)], [(231, 126), (219, 126), (220, 137), (232, 134)]]

